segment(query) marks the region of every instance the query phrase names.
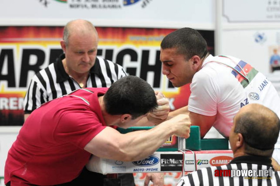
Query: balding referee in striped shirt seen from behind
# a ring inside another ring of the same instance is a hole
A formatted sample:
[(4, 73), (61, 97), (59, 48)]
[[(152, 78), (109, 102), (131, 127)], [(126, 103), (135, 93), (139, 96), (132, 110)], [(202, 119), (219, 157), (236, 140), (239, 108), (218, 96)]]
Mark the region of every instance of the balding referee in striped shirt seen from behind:
[[(229, 136), (233, 160), (228, 165), (193, 171), (182, 177), (177, 186), (280, 186), (280, 172), (271, 165), (279, 129), (279, 118), (269, 108), (260, 104), (242, 107), (233, 119)], [(242, 170), (256, 174), (239, 175)], [(259, 175), (261, 172), (266, 174)]]

